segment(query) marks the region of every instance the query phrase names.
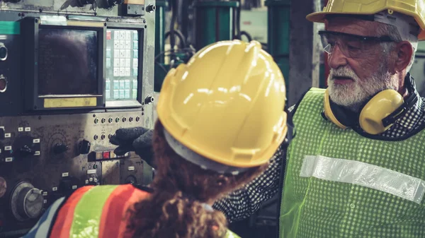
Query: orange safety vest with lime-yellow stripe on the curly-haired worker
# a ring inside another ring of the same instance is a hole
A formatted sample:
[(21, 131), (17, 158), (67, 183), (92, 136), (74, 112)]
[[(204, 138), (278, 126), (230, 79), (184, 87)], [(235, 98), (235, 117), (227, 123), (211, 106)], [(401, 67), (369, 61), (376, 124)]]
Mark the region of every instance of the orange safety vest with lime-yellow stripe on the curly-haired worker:
[(60, 208), (50, 237), (132, 237), (128, 209), (147, 196), (131, 184), (81, 187)]

